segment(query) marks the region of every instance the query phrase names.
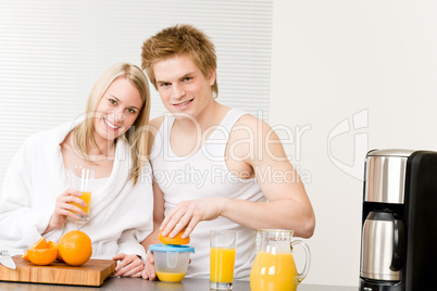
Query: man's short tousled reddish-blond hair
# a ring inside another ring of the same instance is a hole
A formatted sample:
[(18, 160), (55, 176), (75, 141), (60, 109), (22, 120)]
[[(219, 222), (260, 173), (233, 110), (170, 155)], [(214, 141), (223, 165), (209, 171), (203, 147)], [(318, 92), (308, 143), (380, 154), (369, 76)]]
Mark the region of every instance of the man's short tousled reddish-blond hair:
[[(191, 25), (178, 24), (161, 30), (142, 45), (141, 67), (146, 69), (154, 88), (157, 88), (157, 79), (153, 65), (176, 54), (190, 56), (205, 77), (209, 77), (211, 69), (217, 67), (215, 48), (211, 39)], [(216, 77), (211, 91), (213, 97), (218, 96)]]

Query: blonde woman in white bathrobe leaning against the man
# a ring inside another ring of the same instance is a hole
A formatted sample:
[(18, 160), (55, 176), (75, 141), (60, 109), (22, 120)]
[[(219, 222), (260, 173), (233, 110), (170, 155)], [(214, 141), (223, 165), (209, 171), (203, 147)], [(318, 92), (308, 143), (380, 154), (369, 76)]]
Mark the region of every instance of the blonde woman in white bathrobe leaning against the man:
[[(146, 257), (140, 242), (153, 230), (145, 74), (126, 63), (112, 66), (95, 84), (86, 110), (74, 123), (33, 135), (13, 157), (0, 198), (0, 239), (26, 249), (41, 236), (59, 241), (79, 229), (91, 238), (92, 257), (121, 261), (116, 276), (139, 277)], [(96, 168), (85, 223), (72, 213), (85, 214), (72, 203), (86, 205), (67, 189), (72, 165)]]

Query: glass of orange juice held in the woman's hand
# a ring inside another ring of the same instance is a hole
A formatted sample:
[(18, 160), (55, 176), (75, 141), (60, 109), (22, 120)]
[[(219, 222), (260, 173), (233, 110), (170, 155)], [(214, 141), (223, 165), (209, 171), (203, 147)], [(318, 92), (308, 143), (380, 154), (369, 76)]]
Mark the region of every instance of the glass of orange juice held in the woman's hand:
[[(71, 166), (68, 168), (67, 178), (68, 187), (82, 193), (80, 199), (87, 204), (85, 207), (76, 203), (72, 203), (85, 212), (85, 215), (75, 213), (79, 217), (79, 222), (88, 222), (89, 206), (91, 205), (91, 192), (95, 180), (95, 168), (88, 166)], [(68, 217), (70, 220), (75, 220)]]

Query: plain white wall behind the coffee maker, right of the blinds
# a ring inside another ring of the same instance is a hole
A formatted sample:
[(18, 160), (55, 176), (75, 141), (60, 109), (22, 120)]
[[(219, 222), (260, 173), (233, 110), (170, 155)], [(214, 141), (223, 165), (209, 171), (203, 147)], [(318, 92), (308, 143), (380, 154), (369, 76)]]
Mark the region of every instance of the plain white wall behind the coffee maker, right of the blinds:
[(274, 0), (270, 124), (295, 134), (317, 219), (304, 283), (358, 286), (366, 151), (437, 150), (435, 15), (435, 1)]

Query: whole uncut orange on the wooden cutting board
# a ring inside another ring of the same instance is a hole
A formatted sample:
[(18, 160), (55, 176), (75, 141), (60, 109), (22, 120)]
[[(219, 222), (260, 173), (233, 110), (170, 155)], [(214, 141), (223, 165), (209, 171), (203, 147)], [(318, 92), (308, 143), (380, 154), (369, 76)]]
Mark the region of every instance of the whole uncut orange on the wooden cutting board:
[(62, 260), (72, 266), (80, 266), (92, 255), (91, 239), (80, 230), (72, 230), (62, 236), (58, 249)]

